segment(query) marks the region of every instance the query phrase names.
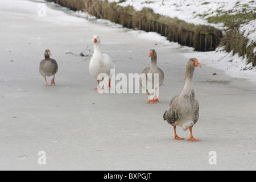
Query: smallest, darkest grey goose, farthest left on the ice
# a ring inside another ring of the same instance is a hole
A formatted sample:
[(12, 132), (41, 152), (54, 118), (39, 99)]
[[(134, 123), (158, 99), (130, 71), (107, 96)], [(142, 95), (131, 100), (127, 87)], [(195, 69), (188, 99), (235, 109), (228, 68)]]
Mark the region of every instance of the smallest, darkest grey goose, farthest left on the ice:
[[(55, 78), (55, 74), (58, 71), (58, 65), (57, 62), (54, 59), (51, 59), (49, 56), (51, 56), (51, 52), (49, 51), (49, 49), (46, 49), (46, 51), (44, 52), (44, 57), (45, 59), (41, 61), (40, 63), (40, 67), (39, 67), (39, 72), (40, 74), (44, 77), (44, 80), (46, 80), (46, 85), (45, 86), (52, 86), (52, 85), (56, 85), (54, 78)], [(51, 80), (51, 85), (49, 85), (47, 83), (47, 76), (52, 76), (53, 78)]]

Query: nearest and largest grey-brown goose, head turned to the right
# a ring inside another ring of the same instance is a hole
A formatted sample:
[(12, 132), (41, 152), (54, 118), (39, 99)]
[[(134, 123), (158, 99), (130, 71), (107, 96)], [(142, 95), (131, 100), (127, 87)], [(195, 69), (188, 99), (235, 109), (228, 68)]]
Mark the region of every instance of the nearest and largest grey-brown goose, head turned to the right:
[(176, 134), (176, 126), (180, 126), (184, 131), (189, 129), (191, 136), (188, 141), (200, 141), (193, 138), (192, 135), (192, 127), (199, 119), (199, 103), (195, 98), (192, 82), (195, 67), (201, 67), (199, 61), (196, 58), (189, 59), (185, 71), (183, 91), (179, 96), (172, 98), (168, 109), (163, 115), (164, 121), (166, 120), (174, 127), (175, 140), (184, 139), (179, 138)]

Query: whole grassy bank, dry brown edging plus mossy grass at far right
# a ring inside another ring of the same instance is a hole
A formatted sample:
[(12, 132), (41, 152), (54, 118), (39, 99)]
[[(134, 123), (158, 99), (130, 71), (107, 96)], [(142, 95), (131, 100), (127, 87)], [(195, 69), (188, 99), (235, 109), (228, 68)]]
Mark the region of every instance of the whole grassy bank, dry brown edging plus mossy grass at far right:
[[(97, 18), (108, 19), (122, 24), (127, 28), (144, 31), (155, 31), (166, 36), (171, 42), (195, 48), (195, 51), (213, 51), (218, 46), (225, 46), (225, 50), (247, 57), (248, 63), (256, 65), (256, 43), (249, 42), (239, 30), (240, 24), (255, 19), (254, 11), (232, 14), (232, 12), (218, 12), (220, 16), (210, 16), (209, 23), (224, 23), (228, 27), (225, 35), (211, 26), (195, 26), (177, 18), (170, 18), (155, 14), (151, 9), (144, 8), (135, 11), (133, 7), (121, 7), (117, 3), (100, 0), (48, 0), (69, 7), (71, 10), (86, 11)], [(238, 5), (237, 5), (238, 6)], [(243, 5), (245, 6), (245, 5)], [(245, 7), (246, 8), (246, 7)], [(201, 15), (205, 16), (205, 15)]]

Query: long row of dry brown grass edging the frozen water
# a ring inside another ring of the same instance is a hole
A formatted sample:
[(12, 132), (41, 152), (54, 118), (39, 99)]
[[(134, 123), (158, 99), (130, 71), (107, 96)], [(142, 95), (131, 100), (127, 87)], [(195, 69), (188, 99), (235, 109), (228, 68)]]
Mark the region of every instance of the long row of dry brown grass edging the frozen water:
[(209, 26), (195, 26), (177, 18), (154, 14), (152, 9), (135, 11), (133, 7), (121, 7), (117, 3), (100, 0), (48, 0), (69, 7), (85, 10), (97, 18), (108, 19), (127, 28), (155, 31), (172, 42), (194, 47), (196, 51), (213, 51), (220, 43), (221, 31)]

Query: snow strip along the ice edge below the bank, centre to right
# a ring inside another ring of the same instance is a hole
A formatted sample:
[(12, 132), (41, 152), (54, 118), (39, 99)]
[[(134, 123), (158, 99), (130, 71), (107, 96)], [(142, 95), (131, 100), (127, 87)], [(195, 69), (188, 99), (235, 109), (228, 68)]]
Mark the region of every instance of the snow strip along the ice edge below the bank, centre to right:
[(244, 78), (249, 80), (253, 84), (256, 84), (256, 68), (252, 67), (251, 63), (247, 64), (247, 59), (243, 59), (238, 56), (238, 53), (233, 55), (233, 52), (226, 52), (223, 49), (217, 48), (216, 51), (209, 52), (196, 52), (193, 48), (180, 46), (178, 43), (169, 42), (164, 36), (160, 36), (155, 32), (143, 32), (143, 31), (130, 31), (127, 32), (132, 36), (136, 36), (139, 39), (151, 39), (161, 42), (164, 45), (171, 45), (176, 48), (181, 48), (184, 51), (186, 57), (197, 57), (203, 64), (210, 67), (214, 67), (224, 71), (231, 77)]

